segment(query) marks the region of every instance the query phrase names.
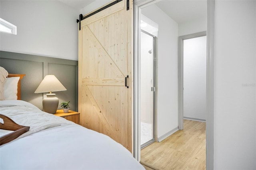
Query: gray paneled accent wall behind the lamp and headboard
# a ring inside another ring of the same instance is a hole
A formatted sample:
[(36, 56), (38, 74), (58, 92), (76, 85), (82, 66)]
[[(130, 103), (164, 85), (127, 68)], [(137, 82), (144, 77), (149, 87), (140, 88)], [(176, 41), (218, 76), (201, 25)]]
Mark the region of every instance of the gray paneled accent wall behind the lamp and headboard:
[[(53, 74), (67, 89), (54, 92), (60, 102), (70, 101), (70, 110), (78, 110), (78, 61), (0, 51), (0, 66), (8, 73), (26, 74), (21, 80), (21, 99), (43, 109), (46, 93), (34, 93), (48, 74)], [(62, 109), (60, 106), (58, 109)]]

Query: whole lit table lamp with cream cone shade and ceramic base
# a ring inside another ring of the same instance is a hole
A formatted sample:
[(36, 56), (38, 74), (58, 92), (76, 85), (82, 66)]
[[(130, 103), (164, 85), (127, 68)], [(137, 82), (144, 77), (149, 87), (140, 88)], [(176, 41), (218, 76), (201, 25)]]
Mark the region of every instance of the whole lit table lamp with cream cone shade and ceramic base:
[(46, 93), (46, 98), (43, 99), (43, 110), (51, 114), (56, 113), (59, 105), (59, 99), (55, 97), (52, 92), (67, 90), (61, 82), (54, 75), (47, 75), (44, 77), (42, 82), (39, 84), (35, 93)]

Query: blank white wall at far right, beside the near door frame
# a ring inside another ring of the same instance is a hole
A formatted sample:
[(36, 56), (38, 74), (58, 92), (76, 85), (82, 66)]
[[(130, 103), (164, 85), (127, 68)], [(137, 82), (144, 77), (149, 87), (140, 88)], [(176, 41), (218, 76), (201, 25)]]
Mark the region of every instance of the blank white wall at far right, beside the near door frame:
[(215, 1), (214, 169), (256, 169), (256, 1)]

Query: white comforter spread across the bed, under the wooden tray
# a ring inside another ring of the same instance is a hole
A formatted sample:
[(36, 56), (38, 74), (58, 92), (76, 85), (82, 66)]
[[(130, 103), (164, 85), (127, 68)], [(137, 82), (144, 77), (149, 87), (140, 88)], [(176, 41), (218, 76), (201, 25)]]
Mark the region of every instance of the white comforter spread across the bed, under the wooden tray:
[(1, 170), (142, 170), (106, 135), (42, 112), (21, 100), (0, 101), (0, 113), (30, 130), (0, 146)]

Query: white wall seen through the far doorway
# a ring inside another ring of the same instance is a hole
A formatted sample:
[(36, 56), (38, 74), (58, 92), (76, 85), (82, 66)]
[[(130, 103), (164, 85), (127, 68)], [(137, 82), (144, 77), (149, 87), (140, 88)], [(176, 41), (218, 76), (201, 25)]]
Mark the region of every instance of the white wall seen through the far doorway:
[(184, 117), (206, 120), (206, 36), (183, 41)]

